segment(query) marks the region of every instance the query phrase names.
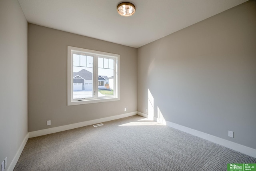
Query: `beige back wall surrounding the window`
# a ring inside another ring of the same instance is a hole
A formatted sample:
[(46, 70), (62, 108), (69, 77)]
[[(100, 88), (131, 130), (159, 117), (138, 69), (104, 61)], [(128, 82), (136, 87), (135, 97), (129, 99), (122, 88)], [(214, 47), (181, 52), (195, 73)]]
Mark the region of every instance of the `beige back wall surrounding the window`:
[[(120, 101), (67, 106), (67, 46), (120, 54)], [(28, 24), (29, 132), (134, 111), (136, 48)]]

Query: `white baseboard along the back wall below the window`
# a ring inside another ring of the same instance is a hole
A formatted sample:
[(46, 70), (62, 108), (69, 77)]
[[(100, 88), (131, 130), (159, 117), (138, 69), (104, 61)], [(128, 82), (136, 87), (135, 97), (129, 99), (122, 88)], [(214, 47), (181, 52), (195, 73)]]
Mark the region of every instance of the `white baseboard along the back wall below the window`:
[(29, 132), (28, 135), (29, 135), (29, 138), (38, 137), (38, 136), (41, 136), (41, 135), (47, 135), (47, 134), (50, 134), (50, 133), (66, 131), (66, 130), (69, 130), (69, 129), (84, 127), (84, 126), (87, 126), (87, 125), (92, 125), (92, 124), (96, 124), (96, 123), (100, 123), (100, 122), (112, 121), (112, 120), (115, 120), (115, 119), (120, 119), (120, 118), (123, 118), (123, 117), (128, 117), (128, 116), (132, 116), (132, 115), (136, 115), (136, 114), (137, 114), (137, 111), (134, 111), (134, 112), (125, 113), (125, 114), (121, 114), (121, 115), (115, 115), (115, 116), (104, 117), (104, 118), (100, 118), (100, 119), (94, 119), (94, 120), (90, 120), (90, 121), (73, 123), (73, 124), (70, 124), (70, 125), (63, 125), (63, 126), (59, 126), (59, 127), (42, 129), (42, 130), (38, 130), (38, 131), (32, 131), (32, 132)]

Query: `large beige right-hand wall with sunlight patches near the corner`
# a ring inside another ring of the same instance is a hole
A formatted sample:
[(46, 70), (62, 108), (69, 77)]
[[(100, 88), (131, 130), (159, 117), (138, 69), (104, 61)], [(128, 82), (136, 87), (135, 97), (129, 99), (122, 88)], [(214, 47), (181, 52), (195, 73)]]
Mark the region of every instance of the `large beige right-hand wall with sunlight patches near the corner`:
[(143, 113), (148, 89), (155, 117), (256, 149), (256, 1), (138, 48)]

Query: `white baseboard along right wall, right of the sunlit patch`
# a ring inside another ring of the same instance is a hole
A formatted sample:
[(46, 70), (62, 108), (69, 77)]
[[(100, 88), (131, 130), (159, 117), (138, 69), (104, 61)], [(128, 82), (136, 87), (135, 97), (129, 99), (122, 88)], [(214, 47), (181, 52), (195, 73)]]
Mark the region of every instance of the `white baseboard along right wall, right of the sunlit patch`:
[(176, 123), (172, 123), (170, 121), (166, 121), (166, 125), (256, 158), (256, 149), (246, 147), (244, 145), (234, 143), (232, 141), (228, 141), (226, 139), (222, 139), (220, 137), (216, 137), (216, 136), (210, 135), (208, 133), (197, 131), (197, 130), (191, 129), (189, 127), (185, 127), (185, 126), (182, 126), (182, 125), (179, 125)]

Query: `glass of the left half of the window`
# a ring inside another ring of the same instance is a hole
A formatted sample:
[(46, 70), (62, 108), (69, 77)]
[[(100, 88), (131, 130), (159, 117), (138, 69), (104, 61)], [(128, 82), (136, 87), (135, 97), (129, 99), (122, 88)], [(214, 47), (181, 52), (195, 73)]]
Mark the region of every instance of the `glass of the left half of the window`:
[[(94, 97), (92, 82), (93, 68), (83, 67), (86, 65), (86, 61), (88, 61), (86, 57), (83, 55), (80, 56), (81, 66), (73, 66), (73, 99)], [(77, 60), (77, 56), (75, 58)], [(93, 66), (93, 57), (90, 56), (90, 59), (90, 66)]]

